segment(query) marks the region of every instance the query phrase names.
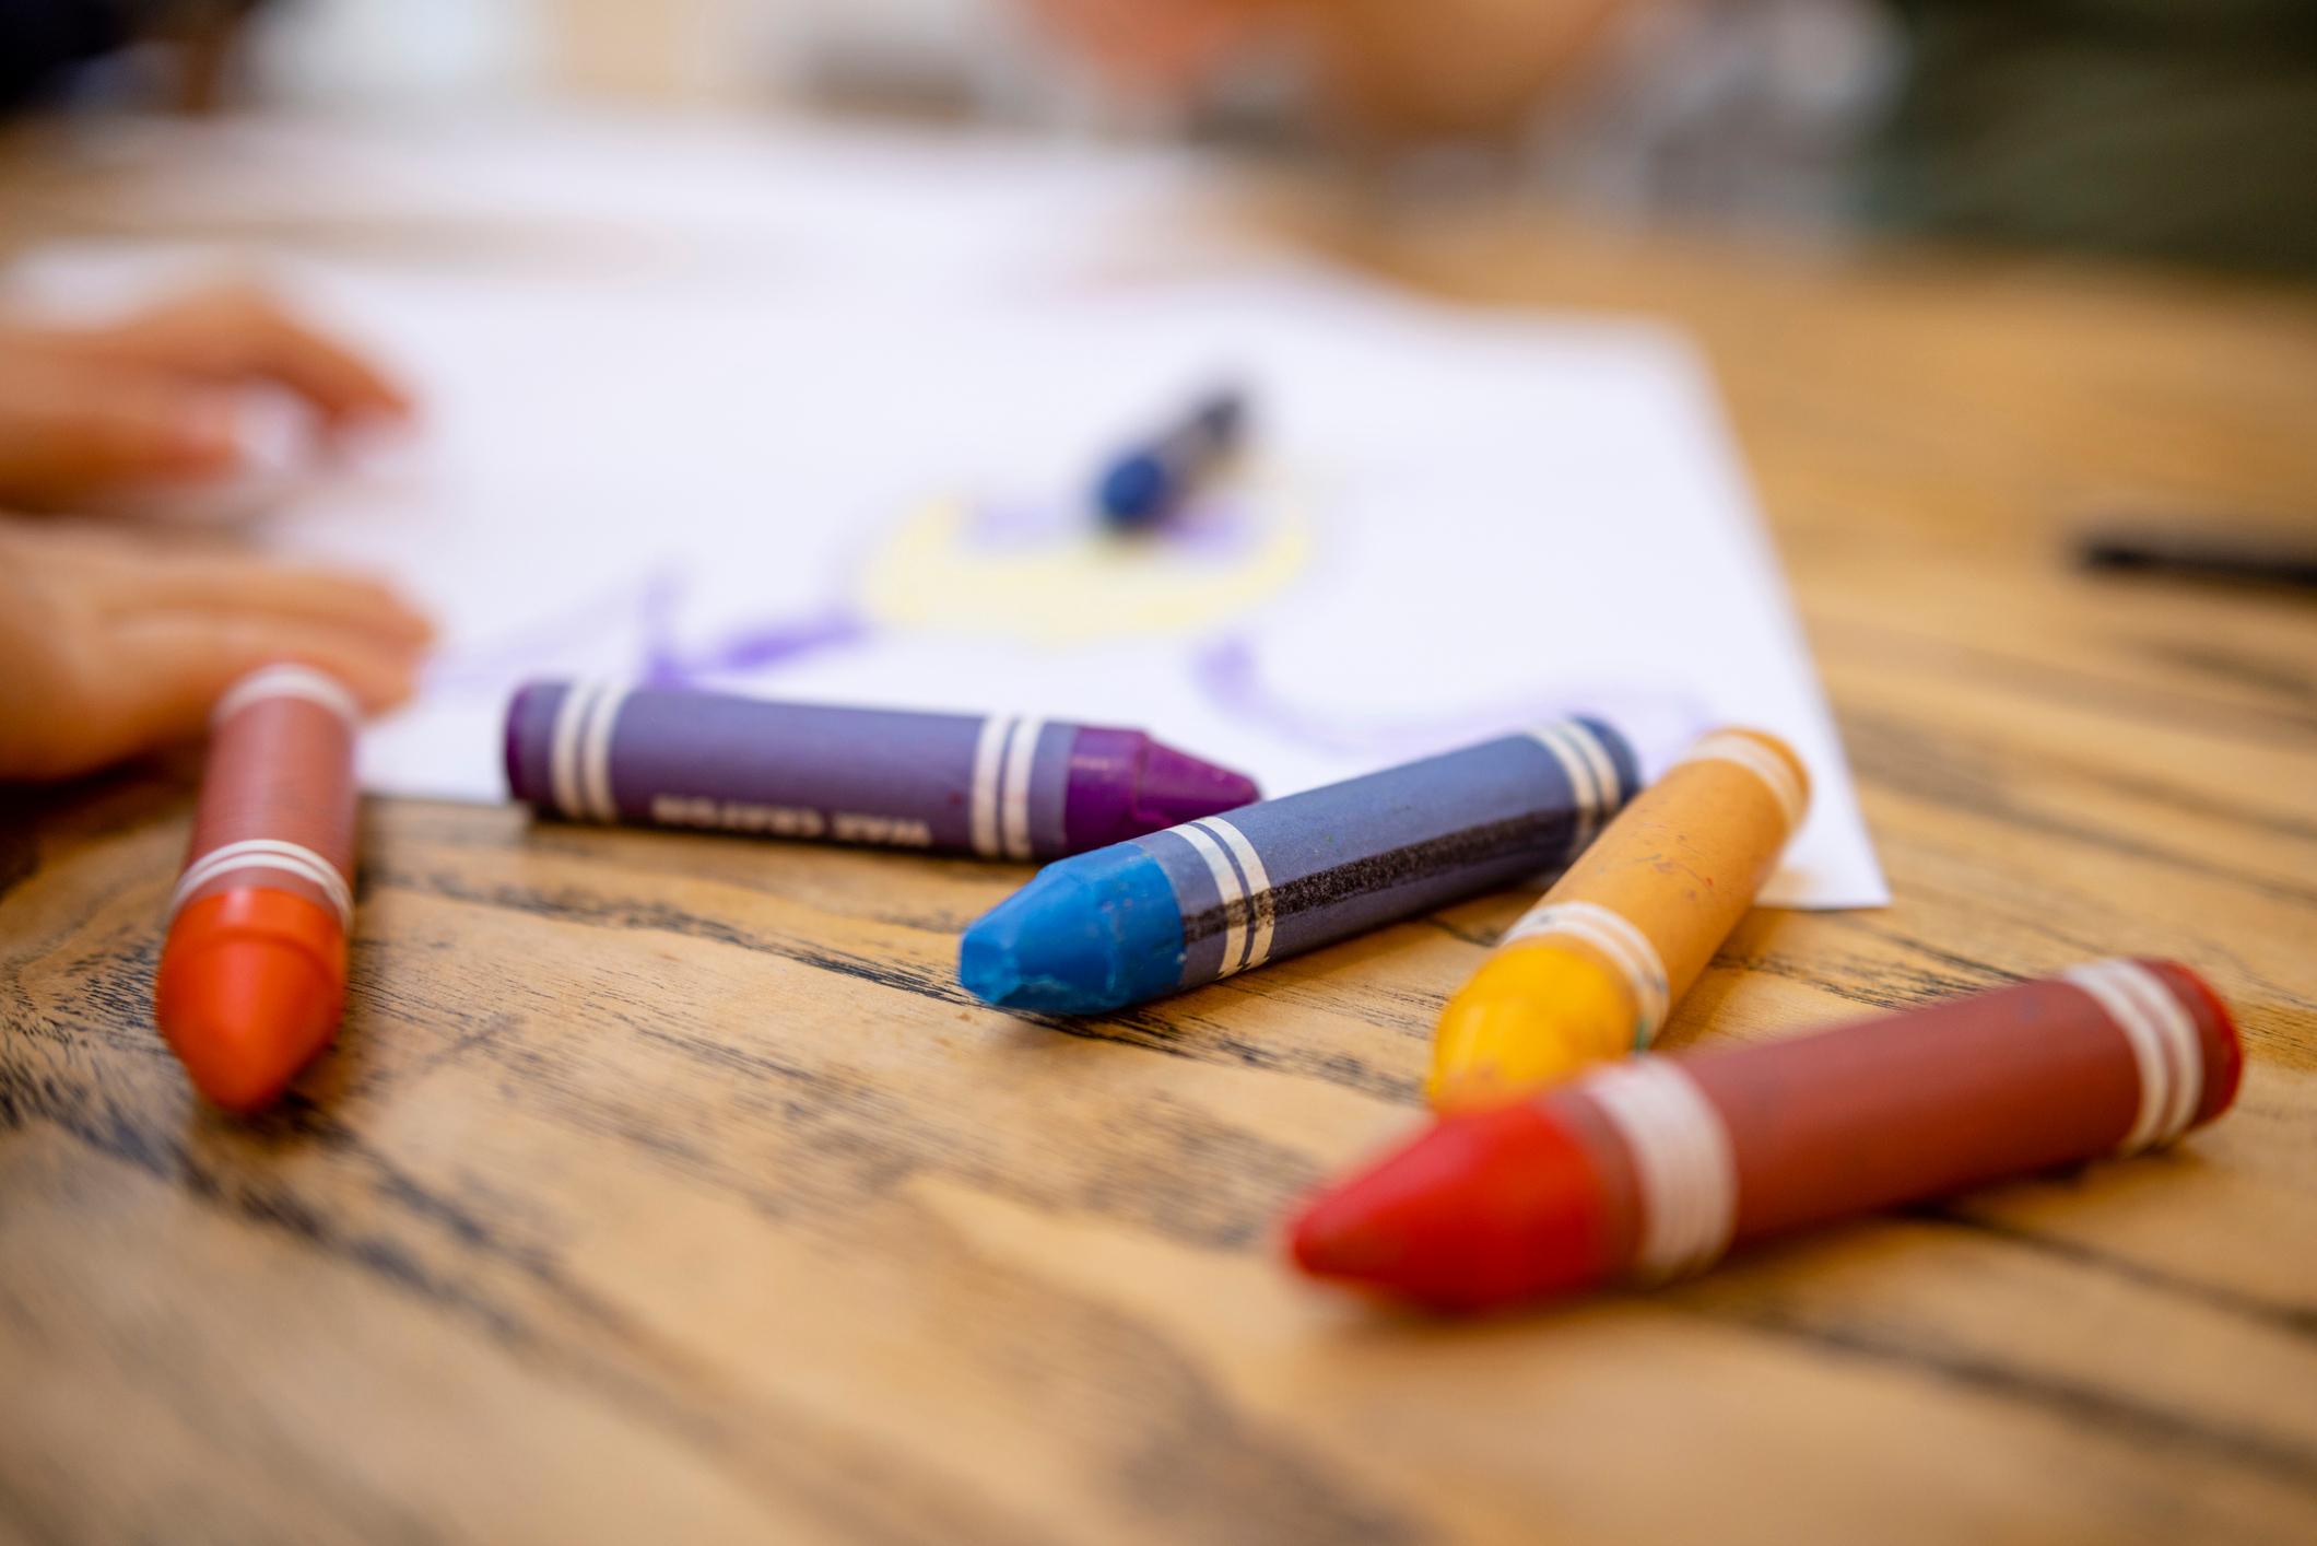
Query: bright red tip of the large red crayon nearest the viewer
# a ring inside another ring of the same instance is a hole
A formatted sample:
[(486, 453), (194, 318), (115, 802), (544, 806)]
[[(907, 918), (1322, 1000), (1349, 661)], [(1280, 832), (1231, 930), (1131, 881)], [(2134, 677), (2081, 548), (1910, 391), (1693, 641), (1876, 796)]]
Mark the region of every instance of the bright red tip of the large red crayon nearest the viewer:
[(1295, 1266), (1434, 1310), (1488, 1310), (1610, 1272), (1601, 1180), (1538, 1106), (1434, 1124), (1295, 1222)]

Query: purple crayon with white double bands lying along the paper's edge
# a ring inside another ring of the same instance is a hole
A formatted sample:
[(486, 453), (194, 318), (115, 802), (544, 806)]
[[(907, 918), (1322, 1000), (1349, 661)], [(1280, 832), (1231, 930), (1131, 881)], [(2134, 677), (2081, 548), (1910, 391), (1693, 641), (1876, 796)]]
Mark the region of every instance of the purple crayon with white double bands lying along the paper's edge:
[(507, 788), (572, 821), (1052, 860), (1233, 811), (1253, 781), (1140, 730), (602, 681), (507, 705)]

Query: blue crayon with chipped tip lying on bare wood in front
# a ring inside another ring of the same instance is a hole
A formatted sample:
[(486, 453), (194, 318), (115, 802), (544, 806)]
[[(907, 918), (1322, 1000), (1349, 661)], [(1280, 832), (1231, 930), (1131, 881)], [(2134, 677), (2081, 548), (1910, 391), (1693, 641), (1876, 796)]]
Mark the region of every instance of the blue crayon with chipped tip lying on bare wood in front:
[(1638, 788), (1594, 719), (1203, 816), (1040, 869), (966, 929), (1003, 1008), (1101, 1013), (1214, 983), (1573, 860)]

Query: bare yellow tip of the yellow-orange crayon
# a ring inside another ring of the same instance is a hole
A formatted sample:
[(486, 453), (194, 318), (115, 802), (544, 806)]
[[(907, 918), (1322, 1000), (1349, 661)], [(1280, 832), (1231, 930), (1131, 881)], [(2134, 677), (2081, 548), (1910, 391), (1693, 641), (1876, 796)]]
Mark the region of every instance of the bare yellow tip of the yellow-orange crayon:
[(1439, 1110), (1497, 1106), (1633, 1050), (1633, 992), (1555, 941), (1506, 946), (1448, 999), (1425, 1096)]

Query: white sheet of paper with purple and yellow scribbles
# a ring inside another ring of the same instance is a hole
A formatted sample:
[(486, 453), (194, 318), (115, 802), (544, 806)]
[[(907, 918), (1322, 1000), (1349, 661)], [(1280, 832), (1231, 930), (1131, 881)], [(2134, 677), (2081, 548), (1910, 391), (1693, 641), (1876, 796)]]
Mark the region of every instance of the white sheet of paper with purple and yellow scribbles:
[[(283, 274), (426, 403), (396, 466), (264, 528), (445, 626), (373, 790), (503, 797), (507, 695), (561, 674), (1135, 725), (1267, 793), (1596, 712), (1652, 774), (1715, 723), (1789, 737), (1814, 804), (1763, 899), (1888, 902), (1710, 378), (1650, 324), (1302, 274), (971, 306)], [(1216, 380), (1242, 475), (1103, 535), (1103, 457)]]

